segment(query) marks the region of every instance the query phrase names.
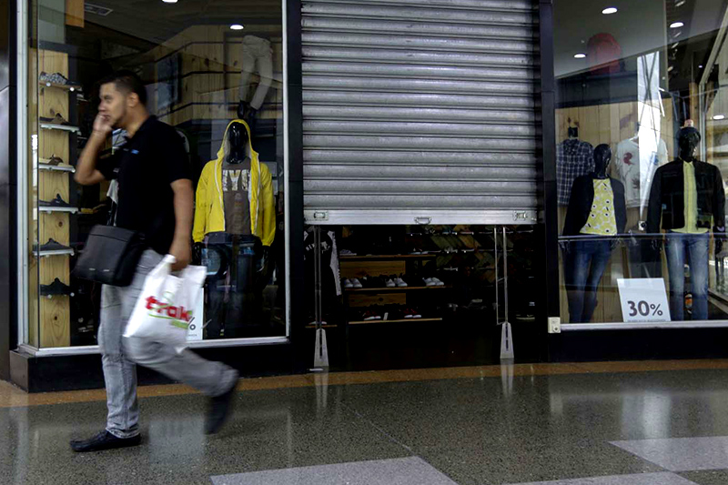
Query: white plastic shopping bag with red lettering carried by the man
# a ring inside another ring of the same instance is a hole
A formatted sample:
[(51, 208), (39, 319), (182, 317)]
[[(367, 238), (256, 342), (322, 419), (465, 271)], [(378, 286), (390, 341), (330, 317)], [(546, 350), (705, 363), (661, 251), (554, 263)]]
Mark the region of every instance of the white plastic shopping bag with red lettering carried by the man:
[(167, 255), (147, 275), (124, 337), (173, 345), (177, 352), (185, 349), (190, 323), (201, 324), (197, 319), (202, 316), (197, 317), (195, 310), (207, 268), (188, 266), (177, 276), (172, 274), (175, 261), (174, 256)]

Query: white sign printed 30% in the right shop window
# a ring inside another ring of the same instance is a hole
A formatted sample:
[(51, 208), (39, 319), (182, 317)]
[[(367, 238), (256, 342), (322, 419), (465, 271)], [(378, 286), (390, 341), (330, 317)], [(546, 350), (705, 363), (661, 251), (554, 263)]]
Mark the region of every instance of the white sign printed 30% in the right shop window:
[(617, 279), (624, 321), (670, 321), (662, 278)]

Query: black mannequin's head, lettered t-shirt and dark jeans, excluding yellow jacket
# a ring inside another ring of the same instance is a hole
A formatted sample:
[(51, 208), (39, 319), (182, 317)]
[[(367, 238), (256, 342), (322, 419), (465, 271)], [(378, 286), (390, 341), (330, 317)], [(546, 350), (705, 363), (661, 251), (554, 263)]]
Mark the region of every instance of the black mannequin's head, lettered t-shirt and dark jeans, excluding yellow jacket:
[(226, 230), (207, 238), (207, 338), (247, 337), (245, 330), (257, 320), (258, 313), (255, 279), (262, 246), (260, 239), (250, 234), (251, 158), (245, 126), (230, 125), (227, 149), (221, 174)]

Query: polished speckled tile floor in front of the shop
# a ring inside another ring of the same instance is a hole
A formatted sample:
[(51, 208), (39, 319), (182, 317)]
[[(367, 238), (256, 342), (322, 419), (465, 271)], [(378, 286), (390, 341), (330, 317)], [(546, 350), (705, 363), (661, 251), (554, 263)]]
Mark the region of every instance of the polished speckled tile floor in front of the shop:
[(247, 379), (219, 435), (184, 386), (140, 389), (142, 446), (75, 454), (103, 391), (0, 384), (0, 483), (726, 485), (728, 360)]

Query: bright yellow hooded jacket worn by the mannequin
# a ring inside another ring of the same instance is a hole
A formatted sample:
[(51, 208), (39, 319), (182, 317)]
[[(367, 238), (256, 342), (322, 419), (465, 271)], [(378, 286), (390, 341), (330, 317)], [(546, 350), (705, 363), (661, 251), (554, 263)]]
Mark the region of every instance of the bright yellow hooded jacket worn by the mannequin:
[(225, 232), (225, 207), (222, 195), (222, 162), (225, 159), (227, 130), (233, 123), (240, 123), (248, 130), (250, 148), (250, 232), (260, 237), (263, 246), (270, 246), (276, 237), (276, 210), (273, 198), (273, 182), (266, 164), (258, 160), (258, 152), (250, 143), (250, 128), (241, 119), (231, 121), (225, 130), (223, 142), (217, 151), (217, 159), (210, 160), (202, 169), (197, 183), (195, 203), (195, 225), (192, 238), (202, 242), (211, 232)]

